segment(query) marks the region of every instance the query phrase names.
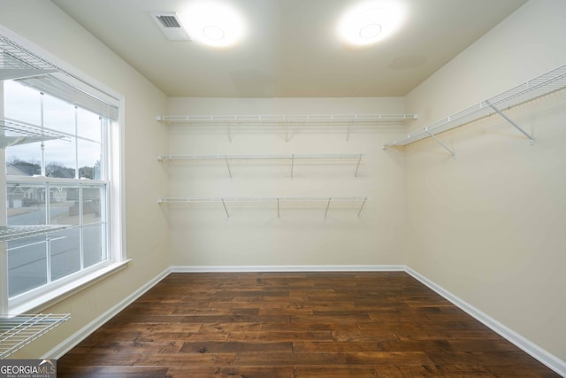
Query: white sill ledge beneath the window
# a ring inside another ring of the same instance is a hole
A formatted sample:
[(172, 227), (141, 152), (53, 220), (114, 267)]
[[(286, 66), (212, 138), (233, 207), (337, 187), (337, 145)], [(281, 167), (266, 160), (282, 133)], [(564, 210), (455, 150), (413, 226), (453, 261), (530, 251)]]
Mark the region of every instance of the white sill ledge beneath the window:
[(21, 314), (42, 312), (43, 309), (56, 305), (58, 302), (67, 297), (73, 296), (73, 294), (80, 290), (87, 289), (96, 282), (102, 281), (104, 278), (118, 273), (122, 269), (126, 268), (127, 263), (130, 261), (131, 259), (126, 259), (124, 261), (113, 263), (109, 266), (104, 266), (103, 268), (96, 270), (96, 272), (80, 277), (79, 279), (69, 282), (57, 289), (53, 289), (47, 294), (27, 301), (25, 304), (13, 306), (10, 308), (10, 313)]

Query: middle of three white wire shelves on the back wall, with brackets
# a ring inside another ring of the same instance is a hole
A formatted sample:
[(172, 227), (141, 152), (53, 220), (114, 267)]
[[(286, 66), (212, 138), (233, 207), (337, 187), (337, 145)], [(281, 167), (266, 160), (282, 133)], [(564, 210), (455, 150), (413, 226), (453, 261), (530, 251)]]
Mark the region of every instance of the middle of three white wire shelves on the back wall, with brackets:
[(354, 172), (354, 177), (357, 177), (357, 173), (360, 169), (360, 164), (362, 163), (363, 154), (323, 154), (323, 155), (159, 155), (157, 156), (158, 161), (179, 161), (179, 160), (224, 160), (226, 162), (226, 168), (228, 169), (228, 174), (232, 178), (232, 170), (230, 169), (231, 160), (289, 160), (291, 163), (291, 178), (294, 174), (294, 161), (299, 159), (321, 159), (321, 160), (352, 160), (356, 162), (356, 171)]

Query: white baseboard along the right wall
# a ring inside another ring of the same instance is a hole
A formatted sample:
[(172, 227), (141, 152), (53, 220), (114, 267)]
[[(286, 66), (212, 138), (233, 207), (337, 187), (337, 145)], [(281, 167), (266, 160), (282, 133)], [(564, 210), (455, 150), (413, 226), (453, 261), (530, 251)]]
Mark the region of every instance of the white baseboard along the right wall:
[(438, 294), (440, 294), (440, 296), (446, 298), (448, 301), (458, 306), (464, 312), (467, 312), (474, 319), (482, 322), (487, 327), (491, 328), (494, 332), (507, 339), (510, 343), (515, 344), (516, 347), (530, 354), (534, 359), (538, 359), (539, 362), (548, 366), (549, 368), (554, 370), (557, 374), (566, 377), (566, 362), (562, 361), (562, 359), (557, 358), (554, 354), (545, 351), (544, 349), (540, 348), (539, 345), (532, 343), (531, 341), (524, 338), (524, 336), (517, 334), (514, 330), (504, 326), (499, 321), (494, 320), (485, 312), (479, 311), (473, 305), (470, 305), (469, 303), (463, 301), (461, 298), (456, 297), (451, 292), (447, 291), (446, 289), (443, 289), (436, 283), (424, 277), (424, 275), (418, 274), (416, 271), (409, 268), (409, 266), (405, 267), (405, 272), (412, 275), (414, 278), (416, 278), (419, 282), (422, 282), (428, 288), (436, 291)]

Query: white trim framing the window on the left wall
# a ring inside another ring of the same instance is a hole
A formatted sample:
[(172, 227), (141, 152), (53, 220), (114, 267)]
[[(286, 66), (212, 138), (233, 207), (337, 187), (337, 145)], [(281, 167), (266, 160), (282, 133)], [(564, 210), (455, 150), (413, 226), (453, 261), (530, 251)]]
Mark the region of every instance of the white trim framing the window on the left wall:
[[(108, 208), (108, 254), (109, 260), (103, 263), (97, 264), (96, 266), (91, 266), (88, 269), (84, 269), (77, 274), (70, 274), (68, 277), (62, 278), (57, 281), (56, 285), (50, 285), (45, 293), (38, 293), (36, 297), (32, 300), (27, 300), (18, 304), (15, 301), (14, 305), (8, 305), (8, 292), (7, 285), (2, 282), (7, 282), (7, 265), (0, 264), (2, 267), (2, 279), (0, 279), (0, 309), (3, 312), (7, 311), (10, 314), (19, 314), (25, 312), (38, 312), (42, 309), (47, 308), (51, 305), (55, 305), (57, 302), (64, 300), (66, 297), (70, 297), (81, 289), (86, 289), (89, 286), (103, 280), (111, 274), (115, 274), (126, 267), (130, 259), (126, 258), (126, 194), (125, 194), (125, 98), (113, 89), (108, 88), (99, 81), (94, 80), (87, 74), (80, 72), (73, 66), (69, 66), (64, 61), (50, 54), (50, 52), (43, 50), (42, 48), (34, 45), (34, 43), (27, 41), (21, 36), (13, 33), (10, 29), (0, 25), (0, 34), (11, 39), (11, 41), (18, 43), (20, 46), (26, 48), (37, 54), (38, 56), (48, 60), (54, 66), (61, 67), (65, 73), (73, 76), (73, 79), (68, 77), (65, 79), (65, 75), (59, 75), (58, 78), (63, 81), (68, 81), (69, 84), (85, 90), (87, 92), (92, 92), (93, 89), (96, 90), (96, 96), (100, 96), (105, 101), (110, 104), (115, 104), (119, 107), (119, 120), (118, 127), (109, 127), (108, 135), (108, 190), (110, 191)], [(3, 166), (5, 166), (4, 158)], [(5, 171), (4, 171), (5, 172)], [(26, 178), (22, 180), (22, 177), (4, 177), (0, 180), (0, 184), (4, 186), (2, 192), (5, 196), (6, 182), (11, 180), (17, 181), (29, 181), (31, 182), (57, 182), (57, 179), (47, 178), (47, 177), (37, 177), (37, 178)], [(96, 181), (90, 181), (96, 183)], [(100, 181), (98, 181), (100, 182)], [(5, 197), (4, 204), (5, 206)], [(6, 261), (6, 249), (0, 248), (1, 259)], [(38, 288), (41, 289), (42, 288)]]

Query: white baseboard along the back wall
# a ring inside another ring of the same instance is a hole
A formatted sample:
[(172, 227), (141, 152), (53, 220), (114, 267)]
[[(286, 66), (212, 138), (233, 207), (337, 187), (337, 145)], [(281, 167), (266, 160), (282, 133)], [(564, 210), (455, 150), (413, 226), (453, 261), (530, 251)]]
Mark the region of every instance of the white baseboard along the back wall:
[(403, 265), (332, 265), (332, 266), (172, 266), (172, 273), (243, 273), (243, 272), (404, 272)]

